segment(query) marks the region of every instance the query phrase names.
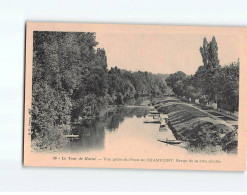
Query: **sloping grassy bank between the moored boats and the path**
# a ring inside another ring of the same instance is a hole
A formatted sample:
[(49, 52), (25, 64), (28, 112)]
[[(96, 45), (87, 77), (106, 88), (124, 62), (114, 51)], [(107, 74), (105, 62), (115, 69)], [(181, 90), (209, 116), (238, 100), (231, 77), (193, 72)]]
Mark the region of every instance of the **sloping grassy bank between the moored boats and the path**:
[(205, 152), (236, 152), (237, 131), (224, 121), (178, 100), (159, 102), (159, 112), (168, 114), (174, 136), (188, 149)]

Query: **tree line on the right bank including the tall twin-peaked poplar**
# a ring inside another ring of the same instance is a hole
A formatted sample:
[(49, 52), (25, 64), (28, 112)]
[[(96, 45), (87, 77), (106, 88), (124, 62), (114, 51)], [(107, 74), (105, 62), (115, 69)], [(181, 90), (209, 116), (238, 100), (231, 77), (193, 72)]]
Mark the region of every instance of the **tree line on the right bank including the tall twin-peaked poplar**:
[(215, 102), (221, 109), (238, 111), (239, 59), (221, 66), (215, 37), (210, 42), (203, 39), (200, 53), (203, 65), (198, 67), (194, 75), (178, 71), (169, 75), (167, 85), (178, 96), (199, 99), (202, 104)]

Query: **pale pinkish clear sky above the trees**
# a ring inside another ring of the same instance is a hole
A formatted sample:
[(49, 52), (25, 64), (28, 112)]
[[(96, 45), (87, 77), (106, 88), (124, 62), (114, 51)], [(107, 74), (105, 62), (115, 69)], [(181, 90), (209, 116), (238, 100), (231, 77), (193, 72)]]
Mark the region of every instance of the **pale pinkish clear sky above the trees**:
[[(203, 65), (199, 51), (203, 38), (213, 34), (111, 33), (98, 32), (98, 47), (104, 48), (108, 68), (117, 66), (131, 71), (171, 74), (183, 71), (194, 74)], [(239, 58), (237, 36), (215, 36), (221, 65)]]

